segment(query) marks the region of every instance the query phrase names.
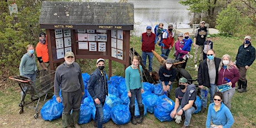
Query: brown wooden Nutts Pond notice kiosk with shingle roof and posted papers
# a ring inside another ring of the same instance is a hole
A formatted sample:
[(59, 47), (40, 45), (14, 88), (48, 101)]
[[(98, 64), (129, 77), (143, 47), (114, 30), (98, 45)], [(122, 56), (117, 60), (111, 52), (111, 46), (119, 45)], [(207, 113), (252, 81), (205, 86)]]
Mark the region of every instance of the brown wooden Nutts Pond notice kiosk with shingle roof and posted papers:
[(39, 23), (46, 29), (52, 70), (67, 51), (75, 58), (108, 59), (110, 76), (112, 60), (129, 66), (133, 3), (45, 1)]

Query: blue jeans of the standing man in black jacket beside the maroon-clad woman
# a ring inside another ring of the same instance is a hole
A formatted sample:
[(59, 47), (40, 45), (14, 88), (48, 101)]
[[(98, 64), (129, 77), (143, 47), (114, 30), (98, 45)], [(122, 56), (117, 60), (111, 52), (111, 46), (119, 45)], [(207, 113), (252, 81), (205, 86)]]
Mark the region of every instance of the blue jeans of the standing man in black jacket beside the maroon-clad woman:
[[(213, 103), (213, 95), (216, 92), (217, 86), (215, 84), (210, 84), (210, 88), (208, 90), (202, 90), (201, 89), (201, 98), (202, 98), (202, 107), (206, 108), (207, 107), (207, 94), (210, 92), (210, 103)], [(206, 93), (206, 94), (205, 94)]]

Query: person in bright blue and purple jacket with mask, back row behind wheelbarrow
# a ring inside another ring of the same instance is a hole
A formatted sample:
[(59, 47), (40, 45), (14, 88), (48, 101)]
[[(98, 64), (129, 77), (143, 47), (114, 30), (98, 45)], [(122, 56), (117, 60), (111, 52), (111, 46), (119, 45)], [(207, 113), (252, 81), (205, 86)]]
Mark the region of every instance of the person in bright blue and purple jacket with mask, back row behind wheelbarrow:
[[(184, 41), (184, 47), (183, 47), (181, 50), (190, 52), (191, 44), (193, 43), (193, 41), (192, 41), (191, 38), (189, 37), (189, 32), (185, 32), (185, 33), (184, 33), (184, 37), (185, 37), (185, 38), (183, 39), (183, 41)], [(190, 55), (190, 54), (186, 54), (186, 55), (183, 57), (183, 59), (186, 60), (186, 58), (193, 58), (193, 56)]]

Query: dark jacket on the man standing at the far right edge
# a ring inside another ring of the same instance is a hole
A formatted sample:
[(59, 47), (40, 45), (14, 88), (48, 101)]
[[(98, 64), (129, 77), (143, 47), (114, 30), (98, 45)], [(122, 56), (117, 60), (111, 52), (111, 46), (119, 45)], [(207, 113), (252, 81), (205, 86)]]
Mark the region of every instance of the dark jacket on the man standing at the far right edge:
[(250, 44), (248, 47), (244, 48), (241, 45), (238, 49), (237, 57), (235, 57), (235, 65), (240, 67), (250, 66), (255, 60), (255, 48)]

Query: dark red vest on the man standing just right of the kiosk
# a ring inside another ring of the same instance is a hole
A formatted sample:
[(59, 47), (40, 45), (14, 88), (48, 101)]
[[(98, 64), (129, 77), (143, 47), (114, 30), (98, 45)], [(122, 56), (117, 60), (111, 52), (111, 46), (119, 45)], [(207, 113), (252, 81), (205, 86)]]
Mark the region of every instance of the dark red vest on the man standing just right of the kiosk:
[(142, 33), (141, 36), (141, 50), (143, 52), (152, 52), (151, 50), (155, 50), (155, 38), (156, 35), (151, 32), (149, 36), (147, 36), (147, 33)]

